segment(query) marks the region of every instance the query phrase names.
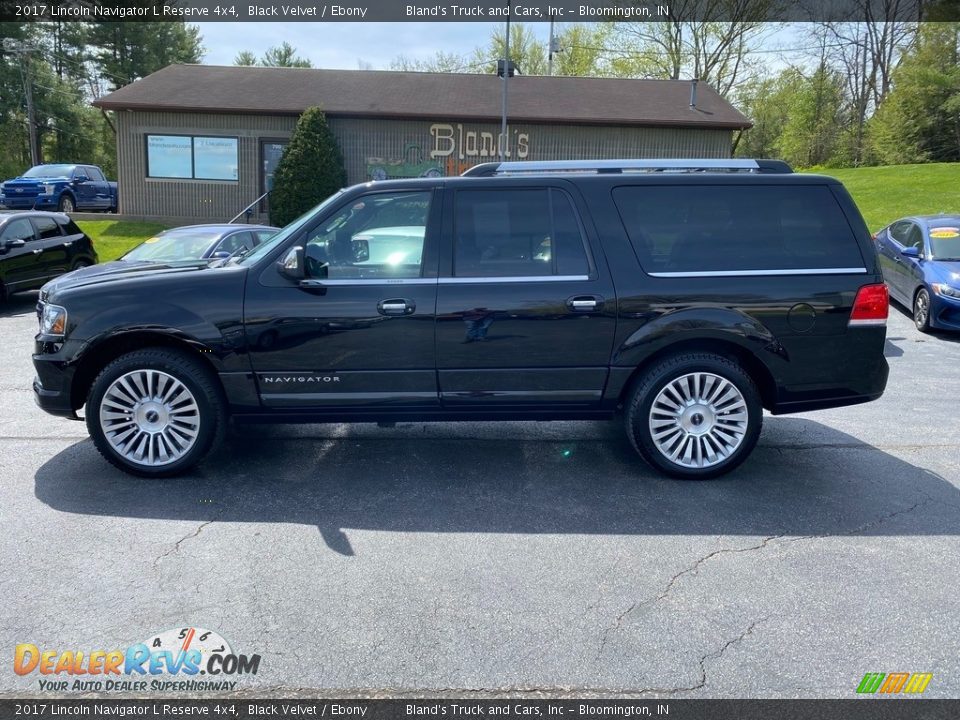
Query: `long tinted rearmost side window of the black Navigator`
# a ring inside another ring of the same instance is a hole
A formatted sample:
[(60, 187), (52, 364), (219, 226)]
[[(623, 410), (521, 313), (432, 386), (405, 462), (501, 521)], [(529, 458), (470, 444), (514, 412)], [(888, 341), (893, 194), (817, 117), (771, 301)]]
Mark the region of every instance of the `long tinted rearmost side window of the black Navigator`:
[(828, 187), (618, 187), (614, 202), (649, 273), (864, 268)]

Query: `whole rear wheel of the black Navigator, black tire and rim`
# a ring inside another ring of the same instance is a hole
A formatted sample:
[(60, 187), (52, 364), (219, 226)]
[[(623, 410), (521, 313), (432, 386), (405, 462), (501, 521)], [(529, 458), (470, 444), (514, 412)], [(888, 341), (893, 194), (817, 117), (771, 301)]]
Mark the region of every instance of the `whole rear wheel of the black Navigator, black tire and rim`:
[[(684, 392), (692, 404), (681, 402)], [(650, 465), (672, 477), (706, 480), (747, 459), (760, 437), (763, 405), (756, 383), (736, 362), (713, 353), (687, 352), (665, 358), (640, 375), (624, 415), (630, 442)], [(656, 438), (652, 425), (657, 425)], [(666, 453), (678, 448), (677, 460), (668, 457)]]

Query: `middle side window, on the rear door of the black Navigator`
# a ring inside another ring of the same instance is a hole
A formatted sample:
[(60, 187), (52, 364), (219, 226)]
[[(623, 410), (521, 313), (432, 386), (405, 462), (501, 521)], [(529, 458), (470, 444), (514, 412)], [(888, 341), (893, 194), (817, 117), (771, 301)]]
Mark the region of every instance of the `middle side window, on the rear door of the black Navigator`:
[(559, 190), (461, 190), (454, 212), (457, 277), (589, 274), (580, 223)]

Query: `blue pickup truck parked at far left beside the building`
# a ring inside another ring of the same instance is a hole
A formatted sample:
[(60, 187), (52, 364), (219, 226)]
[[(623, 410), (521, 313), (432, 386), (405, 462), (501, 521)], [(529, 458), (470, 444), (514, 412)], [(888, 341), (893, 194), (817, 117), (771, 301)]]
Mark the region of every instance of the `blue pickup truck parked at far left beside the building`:
[(12, 210), (102, 210), (116, 212), (117, 184), (96, 165), (35, 165), (0, 183), (0, 205)]

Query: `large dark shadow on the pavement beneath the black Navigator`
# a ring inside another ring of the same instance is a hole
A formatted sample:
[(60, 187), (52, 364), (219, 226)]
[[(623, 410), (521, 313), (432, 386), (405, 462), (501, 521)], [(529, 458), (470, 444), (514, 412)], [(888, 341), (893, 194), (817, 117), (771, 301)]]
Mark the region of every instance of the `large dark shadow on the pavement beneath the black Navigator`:
[[(906, 448), (909, 450), (908, 448)], [(426, 533), (956, 535), (960, 492), (939, 475), (802, 418), (765, 418), (718, 480), (659, 476), (619, 423), (251, 426), (193, 473), (134, 478), (89, 440), (36, 473), (55, 510), (94, 516)]]

